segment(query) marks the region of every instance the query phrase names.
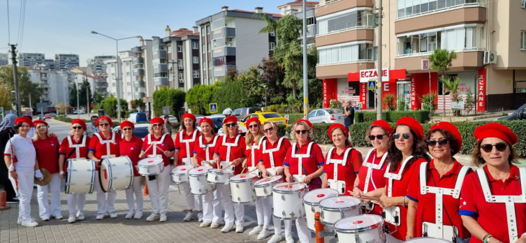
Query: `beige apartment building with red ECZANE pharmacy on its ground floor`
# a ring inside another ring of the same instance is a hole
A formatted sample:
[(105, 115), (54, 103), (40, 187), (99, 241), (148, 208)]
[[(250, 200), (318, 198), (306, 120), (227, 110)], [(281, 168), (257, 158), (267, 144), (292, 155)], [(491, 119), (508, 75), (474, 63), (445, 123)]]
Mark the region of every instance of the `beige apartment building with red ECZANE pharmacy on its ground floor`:
[[(378, 3), (321, 0), (316, 6), (316, 75), (323, 79), (324, 105), (330, 99), (351, 99), (360, 108), (374, 107), (367, 73), (379, 65), (379, 46), (383, 95), (404, 96), (412, 110), (421, 109), (423, 94), (444, 98), (441, 73), (423, 70), (436, 49), (455, 51), (446, 75), (460, 78), (461, 96), (468, 90), (476, 95), (479, 112), (526, 103), (526, 22), (520, 21), (526, 17), (524, 1), (384, 1), (381, 45), (373, 11)], [(445, 98), (450, 109), (451, 96)], [(438, 104), (439, 110), (444, 108)]]

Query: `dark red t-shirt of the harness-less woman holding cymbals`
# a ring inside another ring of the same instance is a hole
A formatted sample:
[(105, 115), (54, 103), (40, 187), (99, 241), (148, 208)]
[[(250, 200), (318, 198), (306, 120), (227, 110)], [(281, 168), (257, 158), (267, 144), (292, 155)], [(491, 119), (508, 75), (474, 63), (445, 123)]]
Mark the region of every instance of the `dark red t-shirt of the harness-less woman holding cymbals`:
[(38, 166), (45, 168), (50, 174), (59, 172), (59, 139), (48, 136), (33, 141), (36, 150)]

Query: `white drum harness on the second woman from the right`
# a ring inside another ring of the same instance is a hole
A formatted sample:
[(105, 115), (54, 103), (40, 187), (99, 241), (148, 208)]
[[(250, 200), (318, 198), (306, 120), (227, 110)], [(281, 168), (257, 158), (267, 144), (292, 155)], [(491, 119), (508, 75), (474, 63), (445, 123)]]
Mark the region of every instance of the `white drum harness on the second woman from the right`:
[[(433, 193), (435, 194), (435, 212), (434, 212), (434, 222), (424, 222), (422, 226), (422, 234), (423, 237), (439, 237), (444, 239), (444, 237), (451, 236), (453, 242), (457, 242), (458, 239), (458, 228), (453, 226), (453, 221), (451, 221), (451, 217), (448, 214), (448, 211), (446, 207), (444, 206), (444, 196), (453, 196), (453, 198), (458, 199), (460, 198), (460, 190), (462, 189), (462, 182), (464, 182), (464, 179), (467, 175), (467, 172), (469, 171), (469, 167), (462, 166), (460, 169), (460, 172), (458, 172), (457, 181), (455, 182), (455, 188), (454, 189), (448, 189), (448, 188), (442, 188), (437, 187), (437, 182), (434, 181), (434, 176), (431, 173), (431, 178), (433, 180), (434, 186), (428, 186), (428, 169), (429, 169), (429, 163), (424, 162), (420, 164), (420, 193), (422, 195), (425, 195), (427, 193)], [(449, 223), (451, 223), (451, 226), (444, 226), (444, 216), (443, 212), (446, 212), (446, 216), (448, 216)], [(428, 233), (428, 227), (433, 228), (433, 232), (437, 235), (430, 235)], [(444, 234), (444, 231), (447, 231)]]

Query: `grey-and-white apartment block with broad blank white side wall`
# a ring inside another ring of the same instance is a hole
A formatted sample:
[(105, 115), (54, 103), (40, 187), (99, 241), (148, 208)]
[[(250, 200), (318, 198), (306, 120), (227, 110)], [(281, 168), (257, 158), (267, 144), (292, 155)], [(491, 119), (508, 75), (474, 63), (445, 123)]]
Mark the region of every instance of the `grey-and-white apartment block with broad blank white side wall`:
[[(224, 6), (221, 12), (196, 21), (201, 35), (202, 84), (223, 80), (230, 72), (246, 71), (273, 52), (275, 34), (259, 34), (267, 22), (254, 13), (263, 13), (263, 8), (247, 11), (228, 10), (228, 6)], [(282, 17), (275, 13), (266, 14), (273, 20)]]

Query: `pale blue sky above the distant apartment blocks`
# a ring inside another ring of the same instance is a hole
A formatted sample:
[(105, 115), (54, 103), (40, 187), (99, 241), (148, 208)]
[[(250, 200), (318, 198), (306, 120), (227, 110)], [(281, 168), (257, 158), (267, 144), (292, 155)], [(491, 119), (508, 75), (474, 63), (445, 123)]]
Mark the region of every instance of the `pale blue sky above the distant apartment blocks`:
[[(80, 66), (86, 66), (86, 59), (94, 56), (117, 54), (115, 40), (91, 34), (91, 31), (117, 39), (131, 36), (151, 39), (152, 36), (164, 37), (166, 25), (172, 31), (180, 28), (192, 29), (196, 20), (219, 13), (221, 6), (228, 6), (230, 10), (250, 11), (254, 11), (255, 7), (263, 7), (263, 12), (279, 13), (277, 6), (288, 2), (29, 0), (25, 4), (24, 28), (19, 31), (22, 1), (24, 0), (0, 1), (0, 52), (8, 52), (8, 43), (11, 43), (18, 45), (19, 52), (44, 53), (46, 59), (54, 59), (54, 54), (79, 54)], [(130, 50), (138, 44), (137, 38), (119, 40), (119, 51)]]

